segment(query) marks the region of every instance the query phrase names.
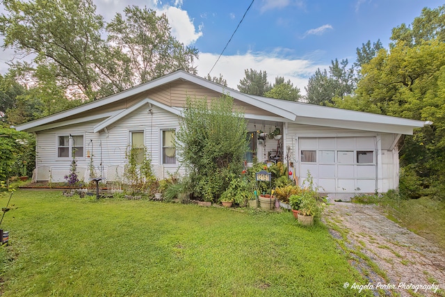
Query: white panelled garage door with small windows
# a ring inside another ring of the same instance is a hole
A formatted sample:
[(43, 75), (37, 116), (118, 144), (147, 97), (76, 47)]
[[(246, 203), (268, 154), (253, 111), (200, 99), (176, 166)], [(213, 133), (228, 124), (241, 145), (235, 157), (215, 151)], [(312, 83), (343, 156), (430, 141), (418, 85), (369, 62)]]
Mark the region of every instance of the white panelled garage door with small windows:
[(299, 183), (309, 171), (325, 193), (373, 193), (375, 138), (299, 138)]

